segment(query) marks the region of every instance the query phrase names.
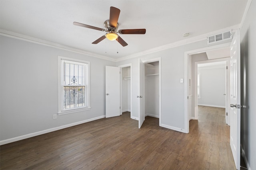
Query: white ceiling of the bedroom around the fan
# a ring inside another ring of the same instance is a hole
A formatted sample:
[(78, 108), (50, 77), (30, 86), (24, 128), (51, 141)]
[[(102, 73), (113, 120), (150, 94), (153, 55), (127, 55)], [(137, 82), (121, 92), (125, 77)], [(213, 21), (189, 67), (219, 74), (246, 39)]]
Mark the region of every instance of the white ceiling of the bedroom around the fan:
[[(247, 1), (0, 0), (0, 29), (117, 59), (238, 25)], [(110, 6), (121, 10), (118, 29), (145, 28), (146, 34), (120, 35), (126, 47), (107, 39), (95, 45), (105, 32), (73, 25), (104, 28)]]

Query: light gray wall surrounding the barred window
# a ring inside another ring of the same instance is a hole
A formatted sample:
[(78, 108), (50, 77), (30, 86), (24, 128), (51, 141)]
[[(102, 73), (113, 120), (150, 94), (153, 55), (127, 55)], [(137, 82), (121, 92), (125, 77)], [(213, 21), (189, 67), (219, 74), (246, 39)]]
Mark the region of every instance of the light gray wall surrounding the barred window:
[[(5, 36), (0, 43), (0, 141), (105, 115), (105, 66), (114, 62)], [(90, 61), (92, 109), (53, 119), (58, 55)]]

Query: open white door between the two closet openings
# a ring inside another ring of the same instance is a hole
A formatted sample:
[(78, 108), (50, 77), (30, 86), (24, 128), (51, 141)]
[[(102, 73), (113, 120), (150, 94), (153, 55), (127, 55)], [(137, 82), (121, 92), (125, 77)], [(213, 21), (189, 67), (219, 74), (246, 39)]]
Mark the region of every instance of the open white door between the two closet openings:
[(139, 88), (140, 94), (137, 96), (139, 102), (139, 128), (144, 122), (144, 63), (139, 59)]

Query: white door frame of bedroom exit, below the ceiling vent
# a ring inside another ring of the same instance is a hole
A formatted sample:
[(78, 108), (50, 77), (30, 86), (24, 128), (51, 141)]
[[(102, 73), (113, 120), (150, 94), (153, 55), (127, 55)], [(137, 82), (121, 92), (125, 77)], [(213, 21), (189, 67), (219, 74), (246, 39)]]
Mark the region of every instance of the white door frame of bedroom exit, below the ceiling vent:
[[(219, 45), (213, 45), (213, 46), (209, 46), (209, 47), (204, 47), (204, 48), (200, 48), (200, 49), (195, 49), (192, 51), (185, 51), (184, 53), (184, 57), (185, 57), (185, 76), (184, 76), (184, 81), (185, 81), (185, 95), (184, 95), (184, 132), (185, 133), (189, 133), (189, 121), (190, 121), (190, 115), (189, 115), (189, 111), (188, 111), (188, 88), (189, 88), (189, 77), (188, 77), (188, 68), (189, 66), (191, 67), (191, 63), (189, 63), (189, 57), (191, 57), (191, 55), (193, 54), (198, 54), (198, 53), (204, 53), (206, 51), (211, 51), (211, 50), (216, 50), (216, 49), (221, 49), (221, 48), (226, 48), (226, 47), (230, 47), (230, 43), (223, 43), (223, 44), (219, 44)], [(192, 106), (193, 107), (193, 106)], [(192, 108), (193, 109), (193, 108)]]

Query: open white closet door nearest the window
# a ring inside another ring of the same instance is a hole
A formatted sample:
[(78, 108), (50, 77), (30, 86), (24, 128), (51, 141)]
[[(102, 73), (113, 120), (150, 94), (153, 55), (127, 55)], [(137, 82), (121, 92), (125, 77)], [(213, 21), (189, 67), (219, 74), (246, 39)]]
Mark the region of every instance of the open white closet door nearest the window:
[(106, 66), (106, 117), (120, 115), (120, 68)]

